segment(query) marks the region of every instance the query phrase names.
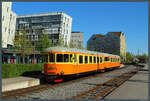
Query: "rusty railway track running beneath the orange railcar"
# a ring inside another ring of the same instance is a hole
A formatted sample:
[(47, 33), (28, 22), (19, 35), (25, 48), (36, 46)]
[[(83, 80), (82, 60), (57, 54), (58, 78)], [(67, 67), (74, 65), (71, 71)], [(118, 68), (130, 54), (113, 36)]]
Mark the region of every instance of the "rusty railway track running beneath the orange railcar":
[[(126, 65), (125, 67), (119, 68), (119, 69), (115, 69), (115, 71), (118, 71), (120, 69), (124, 69), (124, 68), (127, 68), (127, 67), (128, 67), (128, 65)], [(111, 71), (107, 71), (105, 73), (109, 73), (109, 72), (111, 72)], [(62, 83), (59, 83), (59, 84), (42, 84), (42, 85), (38, 85), (38, 86), (34, 86), (34, 87), (23, 88), (23, 89), (18, 89), (18, 90), (13, 90), (13, 91), (7, 91), (7, 92), (2, 93), (2, 99), (17, 98), (19, 96), (24, 96), (25, 94), (40, 92), (40, 91), (46, 90), (48, 88), (53, 88), (53, 87), (57, 87), (57, 86), (70, 84), (70, 83), (73, 83), (73, 82), (88, 79), (89, 77), (94, 77), (94, 76), (98, 76), (98, 75), (102, 75), (102, 74), (103, 73), (96, 73), (94, 75), (86, 75), (82, 78), (75, 78), (75, 79), (69, 80), (69, 81), (67, 80), (66, 82), (62, 82)]]

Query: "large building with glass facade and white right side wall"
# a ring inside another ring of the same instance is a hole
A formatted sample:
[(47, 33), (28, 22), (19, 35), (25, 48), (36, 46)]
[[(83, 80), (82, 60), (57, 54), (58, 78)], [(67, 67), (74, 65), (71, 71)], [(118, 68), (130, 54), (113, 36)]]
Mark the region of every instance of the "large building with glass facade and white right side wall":
[(42, 13), (31, 15), (20, 15), (17, 17), (17, 31), (25, 29), (27, 36), (36, 41), (44, 32), (48, 34), (49, 39), (55, 45), (58, 40), (63, 38), (64, 43), (69, 45), (72, 27), (72, 18), (63, 12)]

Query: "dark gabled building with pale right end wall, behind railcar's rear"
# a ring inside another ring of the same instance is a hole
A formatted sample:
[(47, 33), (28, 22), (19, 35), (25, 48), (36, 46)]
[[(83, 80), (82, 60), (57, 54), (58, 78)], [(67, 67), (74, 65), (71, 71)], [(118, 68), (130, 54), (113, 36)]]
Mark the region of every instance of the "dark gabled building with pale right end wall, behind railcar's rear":
[(87, 41), (87, 49), (116, 54), (126, 60), (126, 42), (123, 32), (108, 32), (106, 35), (94, 34)]

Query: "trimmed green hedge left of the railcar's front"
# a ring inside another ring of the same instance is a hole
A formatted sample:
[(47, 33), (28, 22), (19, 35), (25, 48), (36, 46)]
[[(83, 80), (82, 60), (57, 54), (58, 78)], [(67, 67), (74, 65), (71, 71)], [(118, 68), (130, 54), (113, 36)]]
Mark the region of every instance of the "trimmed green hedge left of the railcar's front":
[(43, 64), (2, 64), (2, 78), (21, 76), (26, 72), (42, 71)]

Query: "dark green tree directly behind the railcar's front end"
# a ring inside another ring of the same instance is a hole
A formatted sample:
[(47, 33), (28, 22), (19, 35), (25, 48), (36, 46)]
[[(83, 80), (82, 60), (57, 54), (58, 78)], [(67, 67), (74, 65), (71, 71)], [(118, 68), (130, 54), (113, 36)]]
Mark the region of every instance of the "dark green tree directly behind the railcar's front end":
[(52, 46), (52, 43), (50, 39), (48, 38), (48, 35), (43, 33), (36, 44), (36, 50), (39, 52), (43, 52), (46, 48), (49, 48)]

